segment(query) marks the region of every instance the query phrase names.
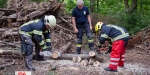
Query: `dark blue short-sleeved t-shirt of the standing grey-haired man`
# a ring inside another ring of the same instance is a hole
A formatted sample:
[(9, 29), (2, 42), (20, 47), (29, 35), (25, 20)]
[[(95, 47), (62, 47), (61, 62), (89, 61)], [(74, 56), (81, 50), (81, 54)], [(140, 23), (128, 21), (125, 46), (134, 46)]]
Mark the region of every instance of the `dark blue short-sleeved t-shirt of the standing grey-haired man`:
[(89, 15), (89, 10), (86, 6), (83, 6), (82, 9), (79, 9), (77, 6), (72, 11), (72, 17), (75, 17), (77, 25), (84, 25), (88, 23), (87, 15)]

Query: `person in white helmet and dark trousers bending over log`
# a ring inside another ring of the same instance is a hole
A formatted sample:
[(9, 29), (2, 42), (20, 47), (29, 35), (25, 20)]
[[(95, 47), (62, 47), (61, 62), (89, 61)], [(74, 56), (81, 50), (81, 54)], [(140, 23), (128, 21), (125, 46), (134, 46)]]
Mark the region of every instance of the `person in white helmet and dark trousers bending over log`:
[[(35, 43), (37, 60), (44, 60), (43, 56), (50, 54), (52, 47), (49, 30), (55, 25), (56, 18), (53, 15), (46, 15), (41, 19), (29, 21), (20, 27), (21, 51), (25, 54), (25, 66), (28, 70), (35, 71), (32, 66), (33, 42)], [(42, 36), (45, 40), (42, 39)], [(42, 52), (40, 52), (40, 49), (42, 49)]]

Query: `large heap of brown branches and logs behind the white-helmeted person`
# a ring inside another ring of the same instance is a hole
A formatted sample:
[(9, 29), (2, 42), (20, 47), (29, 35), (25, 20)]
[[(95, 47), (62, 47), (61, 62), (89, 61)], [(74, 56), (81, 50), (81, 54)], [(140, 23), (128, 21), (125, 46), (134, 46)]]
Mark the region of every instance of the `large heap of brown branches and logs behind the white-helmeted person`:
[[(57, 26), (51, 30), (53, 49), (59, 49), (68, 42), (75, 43), (71, 17), (65, 13), (65, 3), (49, 0), (41, 3), (30, 0), (8, 0), (6, 8), (0, 8), (0, 47), (20, 48), (19, 27), (30, 20), (44, 15), (54, 15)], [(74, 44), (71, 45), (74, 48)]]

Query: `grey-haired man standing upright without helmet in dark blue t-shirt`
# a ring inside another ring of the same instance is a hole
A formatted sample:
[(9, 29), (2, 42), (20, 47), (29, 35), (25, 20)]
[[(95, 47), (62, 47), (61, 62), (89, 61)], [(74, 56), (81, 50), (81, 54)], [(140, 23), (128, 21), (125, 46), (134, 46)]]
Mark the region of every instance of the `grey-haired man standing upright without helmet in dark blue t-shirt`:
[(76, 54), (80, 54), (82, 36), (85, 31), (90, 50), (94, 50), (92, 24), (89, 10), (84, 6), (83, 0), (77, 0), (77, 6), (72, 11), (72, 23), (77, 36)]

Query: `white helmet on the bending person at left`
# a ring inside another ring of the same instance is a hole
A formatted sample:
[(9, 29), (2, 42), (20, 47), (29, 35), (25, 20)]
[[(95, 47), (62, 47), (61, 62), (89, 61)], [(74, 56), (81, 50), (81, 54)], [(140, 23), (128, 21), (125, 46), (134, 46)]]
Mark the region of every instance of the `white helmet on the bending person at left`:
[(55, 26), (56, 25), (56, 18), (55, 18), (55, 16), (53, 16), (53, 15), (47, 15), (47, 16), (45, 16), (45, 18), (44, 18), (44, 24), (45, 25), (49, 25), (50, 27), (51, 26)]

